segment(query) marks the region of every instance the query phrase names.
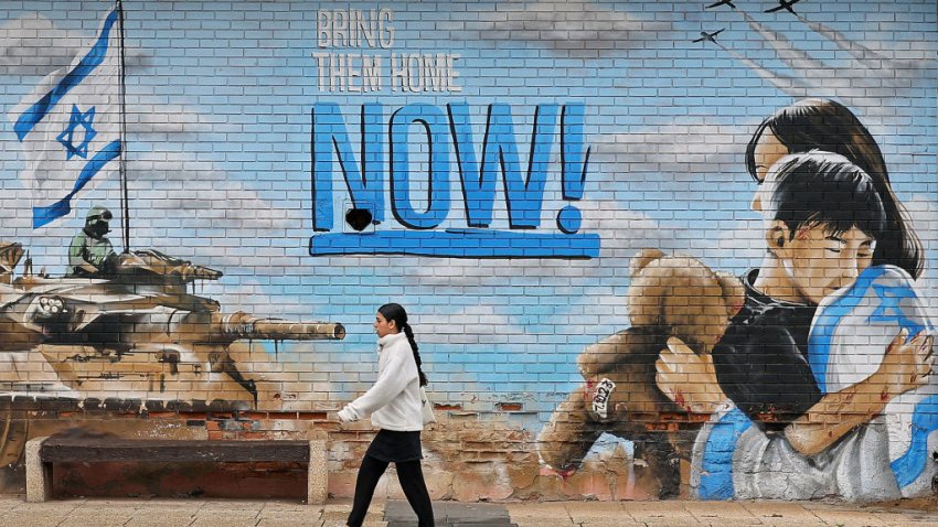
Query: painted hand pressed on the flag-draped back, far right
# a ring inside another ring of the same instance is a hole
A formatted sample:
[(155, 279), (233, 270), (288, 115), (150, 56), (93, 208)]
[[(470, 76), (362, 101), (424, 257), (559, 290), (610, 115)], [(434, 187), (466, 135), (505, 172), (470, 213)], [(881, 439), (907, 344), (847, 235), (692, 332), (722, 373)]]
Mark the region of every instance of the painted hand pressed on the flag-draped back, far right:
[(935, 356), (931, 354), (934, 336), (925, 331), (906, 342), (908, 330), (902, 329), (886, 348), (883, 363), (871, 379), (882, 384), (881, 398), (889, 401), (906, 391), (924, 386), (931, 374)]

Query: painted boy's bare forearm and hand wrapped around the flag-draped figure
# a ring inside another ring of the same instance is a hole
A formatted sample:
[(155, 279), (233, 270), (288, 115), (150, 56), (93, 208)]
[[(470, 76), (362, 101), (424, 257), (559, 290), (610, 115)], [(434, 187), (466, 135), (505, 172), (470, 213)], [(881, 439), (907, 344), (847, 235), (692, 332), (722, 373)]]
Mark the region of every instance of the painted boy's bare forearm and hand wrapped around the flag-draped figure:
[(880, 368), (855, 385), (828, 394), (798, 420), (786, 427), (785, 437), (804, 455), (823, 451), (855, 427), (868, 422), (899, 395), (923, 386), (931, 372), (932, 337), (924, 332), (905, 343), (902, 330)]

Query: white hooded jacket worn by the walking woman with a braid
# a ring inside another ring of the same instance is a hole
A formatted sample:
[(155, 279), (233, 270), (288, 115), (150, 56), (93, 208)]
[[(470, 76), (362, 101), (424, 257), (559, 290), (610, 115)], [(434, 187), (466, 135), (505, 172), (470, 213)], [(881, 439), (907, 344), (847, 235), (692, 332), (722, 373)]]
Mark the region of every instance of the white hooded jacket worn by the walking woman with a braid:
[(407, 335), (404, 332), (384, 335), (377, 341), (377, 380), (340, 410), (339, 418), (358, 421), (371, 413), (372, 424), (384, 430), (423, 430), (420, 380)]

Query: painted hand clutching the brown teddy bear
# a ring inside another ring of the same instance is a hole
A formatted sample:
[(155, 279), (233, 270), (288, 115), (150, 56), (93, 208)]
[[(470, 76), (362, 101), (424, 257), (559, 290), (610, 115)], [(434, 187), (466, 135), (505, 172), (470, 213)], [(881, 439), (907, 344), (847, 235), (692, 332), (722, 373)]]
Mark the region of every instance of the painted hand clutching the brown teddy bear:
[(668, 338), (654, 367), (658, 389), (690, 413), (713, 413), (728, 400), (716, 379), (713, 357), (697, 355), (678, 337)]

